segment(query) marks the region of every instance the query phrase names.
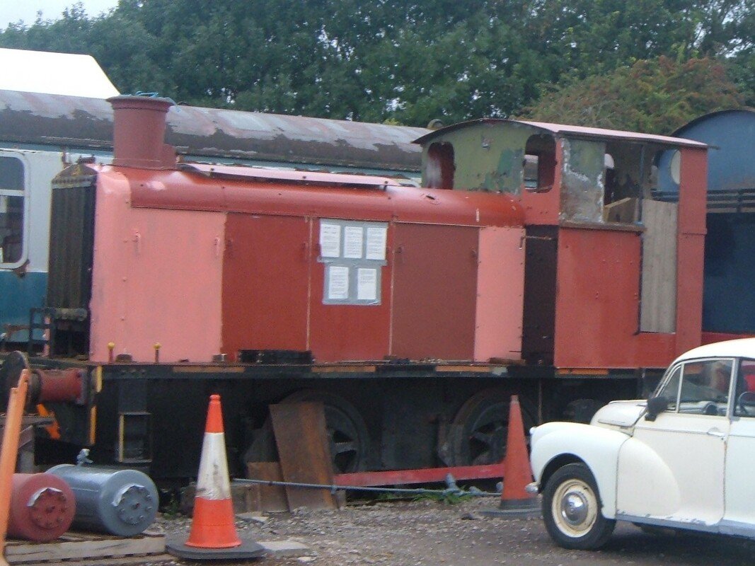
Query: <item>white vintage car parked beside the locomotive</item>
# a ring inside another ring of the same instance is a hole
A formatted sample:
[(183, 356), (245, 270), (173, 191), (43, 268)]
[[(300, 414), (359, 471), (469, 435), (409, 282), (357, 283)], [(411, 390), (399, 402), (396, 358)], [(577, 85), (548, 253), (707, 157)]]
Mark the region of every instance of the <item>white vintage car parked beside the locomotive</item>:
[(649, 400), (546, 423), (531, 442), (559, 546), (599, 548), (616, 521), (755, 539), (755, 338), (692, 349)]

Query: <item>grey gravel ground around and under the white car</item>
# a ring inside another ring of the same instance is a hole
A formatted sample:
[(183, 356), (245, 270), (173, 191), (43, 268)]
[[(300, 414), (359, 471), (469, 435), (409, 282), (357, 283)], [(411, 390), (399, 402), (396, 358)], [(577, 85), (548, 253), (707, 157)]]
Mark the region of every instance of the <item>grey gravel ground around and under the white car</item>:
[[(480, 515), (497, 509), (495, 497), (481, 497), (449, 505), (433, 500), (350, 503), (340, 511), (270, 514), (263, 523), (237, 521), (239, 535), (254, 540), (294, 540), (309, 546), (310, 555), (267, 557), (264, 566), (576, 566), (577, 564), (704, 564), (716, 566), (755, 563), (755, 544), (727, 537), (646, 534), (619, 524), (614, 537), (599, 552), (559, 549), (540, 519)], [(190, 528), (188, 518), (161, 517), (154, 529), (168, 537)], [(190, 564), (173, 561), (173, 564)], [(195, 563), (196, 564), (196, 563)], [(233, 564), (233, 562), (224, 562)], [(246, 562), (248, 564), (248, 562)]]

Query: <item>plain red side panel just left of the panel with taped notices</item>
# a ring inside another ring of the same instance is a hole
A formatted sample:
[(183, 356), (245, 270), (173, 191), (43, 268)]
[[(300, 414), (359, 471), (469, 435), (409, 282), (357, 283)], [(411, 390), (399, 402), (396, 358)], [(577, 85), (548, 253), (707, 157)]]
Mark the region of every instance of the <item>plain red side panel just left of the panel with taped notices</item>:
[(307, 349), (310, 222), (229, 214), (223, 257), (223, 352)]

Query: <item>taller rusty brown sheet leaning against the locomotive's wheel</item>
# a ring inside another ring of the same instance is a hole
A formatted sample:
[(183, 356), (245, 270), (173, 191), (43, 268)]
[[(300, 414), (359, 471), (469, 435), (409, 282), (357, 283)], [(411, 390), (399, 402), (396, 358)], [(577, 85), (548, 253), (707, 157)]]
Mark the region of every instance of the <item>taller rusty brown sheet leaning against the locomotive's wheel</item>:
[[(273, 432), (284, 481), (309, 484), (333, 483), (333, 469), (322, 403), (270, 405)], [(335, 509), (327, 489), (286, 488), (288, 507)]]

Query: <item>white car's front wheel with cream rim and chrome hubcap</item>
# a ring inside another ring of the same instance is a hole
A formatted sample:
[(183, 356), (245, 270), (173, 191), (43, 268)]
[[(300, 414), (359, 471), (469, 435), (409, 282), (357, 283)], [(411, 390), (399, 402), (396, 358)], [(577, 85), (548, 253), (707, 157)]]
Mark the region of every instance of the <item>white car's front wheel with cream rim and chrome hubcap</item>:
[(582, 463), (557, 469), (545, 485), (545, 528), (565, 549), (598, 549), (606, 544), (616, 521), (605, 518), (601, 508), (595, 478)]

